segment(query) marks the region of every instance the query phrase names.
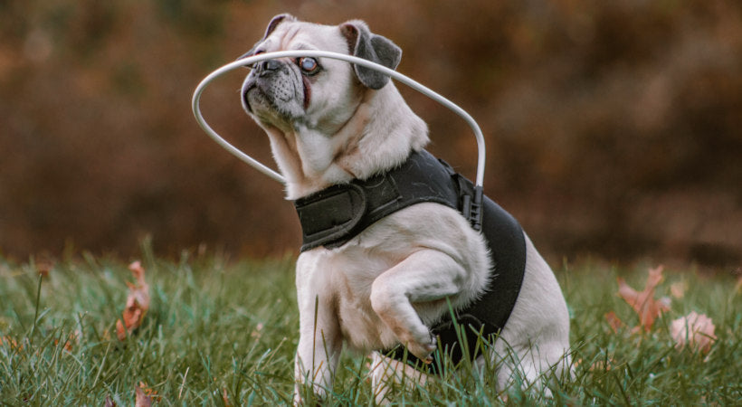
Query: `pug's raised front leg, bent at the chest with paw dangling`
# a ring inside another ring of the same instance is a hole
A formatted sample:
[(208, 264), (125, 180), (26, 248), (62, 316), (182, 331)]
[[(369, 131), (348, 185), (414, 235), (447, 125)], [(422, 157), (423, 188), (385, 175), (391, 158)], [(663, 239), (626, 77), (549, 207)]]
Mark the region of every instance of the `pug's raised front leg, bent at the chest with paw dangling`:
[(466, 270), (451, 256), (431, 249), (415, 251), (374, 280), (371, 307), (411, 354), (430, 363), (435, 338), (413, 304), (437, 301), (444, 309), (441, 300), (459, 294), (466, 280)]

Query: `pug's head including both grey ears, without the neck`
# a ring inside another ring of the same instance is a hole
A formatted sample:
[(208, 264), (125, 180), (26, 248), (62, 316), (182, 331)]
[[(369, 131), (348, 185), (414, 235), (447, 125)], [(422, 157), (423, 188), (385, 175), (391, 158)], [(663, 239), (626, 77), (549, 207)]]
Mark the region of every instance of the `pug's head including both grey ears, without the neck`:
[[(402, 57), (395, 43), (370, 33), (361, 21), (328, 26), (299, 22), (289, 14), (273, 17), (263, 39), (243, 57), (284, 50), (347, 53), (392, 69)], [(376, 71), (331, 59), (268, 60), (256, 63), (244, 80), (243, 107), (272, 125), (291, 123), (327, 115), (323, 109), (335, 113), (338, 102), (357, 99), (359, 86), (378, 90), (388, 81)]]

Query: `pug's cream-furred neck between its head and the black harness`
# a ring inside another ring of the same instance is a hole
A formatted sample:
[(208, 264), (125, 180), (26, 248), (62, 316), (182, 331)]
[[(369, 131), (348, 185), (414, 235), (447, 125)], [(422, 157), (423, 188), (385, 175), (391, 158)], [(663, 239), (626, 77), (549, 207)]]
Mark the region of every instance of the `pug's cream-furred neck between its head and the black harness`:
[(290, 200), (388, 171), (429, 141), (427, 125), (391, 82), (381, 90), (366, 89), (356, 111), (330, 131), (332, 136), (316, 124), (263, 128)]

